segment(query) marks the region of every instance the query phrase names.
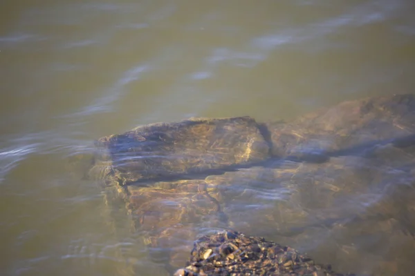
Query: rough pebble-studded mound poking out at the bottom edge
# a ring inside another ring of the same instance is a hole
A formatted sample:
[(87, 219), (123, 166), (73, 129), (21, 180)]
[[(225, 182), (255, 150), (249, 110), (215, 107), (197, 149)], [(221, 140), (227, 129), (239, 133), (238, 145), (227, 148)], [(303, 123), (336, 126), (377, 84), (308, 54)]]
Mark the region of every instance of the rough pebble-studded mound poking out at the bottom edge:
[[(208, 258), (205, 257), (207, 252)], [(329, 265), (315, 264), (312, 259), (288, 246), (225, 230), (199, 238), (185, 266), (176, 270), (174, 275), (342, 274), (335, 273)]]

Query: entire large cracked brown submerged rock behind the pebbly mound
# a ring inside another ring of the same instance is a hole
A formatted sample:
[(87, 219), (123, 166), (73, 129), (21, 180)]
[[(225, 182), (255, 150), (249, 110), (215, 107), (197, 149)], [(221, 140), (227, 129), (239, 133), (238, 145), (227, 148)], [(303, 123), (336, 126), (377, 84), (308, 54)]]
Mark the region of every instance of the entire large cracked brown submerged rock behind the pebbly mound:
[[(287, 123), (151, 124), (96, 146), (89, 175), (125, 202), (170, 272), (198, 235), (233, 228), (325, 256), (343, 273), (415, 273), (414, 95), (347, 101)], [(255, 258), (262, 272), (276, 269)]]

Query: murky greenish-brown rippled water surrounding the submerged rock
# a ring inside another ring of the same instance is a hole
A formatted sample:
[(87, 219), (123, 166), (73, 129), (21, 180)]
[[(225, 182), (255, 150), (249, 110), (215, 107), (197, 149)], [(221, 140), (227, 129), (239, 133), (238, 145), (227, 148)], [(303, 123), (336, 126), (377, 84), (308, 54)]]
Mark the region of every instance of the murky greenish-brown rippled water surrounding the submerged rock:
[(415, 88), (412, 0), (1, 6), (1, 275), (131, 275), (131, 264), (162, 275), (66, 166), (93, 139), (191, 116), (289, 119)]

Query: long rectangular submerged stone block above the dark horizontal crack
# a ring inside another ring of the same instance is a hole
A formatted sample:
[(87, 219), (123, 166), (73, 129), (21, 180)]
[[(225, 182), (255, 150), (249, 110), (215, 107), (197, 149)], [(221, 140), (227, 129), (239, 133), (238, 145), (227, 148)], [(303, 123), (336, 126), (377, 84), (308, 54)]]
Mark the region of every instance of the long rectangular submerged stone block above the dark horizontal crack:
[[(250, 117), (191, 118), (140, 126), (102, 137), (95, 166), (120, 185), (195, 172), (225, 169), (267, 159), (268, 143)], [(95, 170), (97, 170), (95, 168)]]

